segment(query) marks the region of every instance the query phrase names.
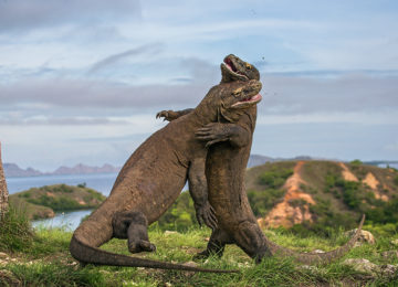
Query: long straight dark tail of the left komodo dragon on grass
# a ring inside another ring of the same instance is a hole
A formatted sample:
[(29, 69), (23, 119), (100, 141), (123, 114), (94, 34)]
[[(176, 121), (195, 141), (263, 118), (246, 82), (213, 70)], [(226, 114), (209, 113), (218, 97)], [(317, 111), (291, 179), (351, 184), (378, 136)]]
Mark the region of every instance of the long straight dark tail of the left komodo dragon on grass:
[(81, 242), (75, 236), (71, 240), (70, 251), (72, 256), (81, 263), (94, 265), (109, 266), (127, 266), (127, 267), (147, 267), (158, 269), (175, 269), (187, 272), (207, 272), (207, 273), (237, 273), (238, 270), (207, 269), (181, 264), (172, 264), (166, 262), (157, 262), (151, 259), (138, 258), (122, 254), (115, 254), (92, 247)]

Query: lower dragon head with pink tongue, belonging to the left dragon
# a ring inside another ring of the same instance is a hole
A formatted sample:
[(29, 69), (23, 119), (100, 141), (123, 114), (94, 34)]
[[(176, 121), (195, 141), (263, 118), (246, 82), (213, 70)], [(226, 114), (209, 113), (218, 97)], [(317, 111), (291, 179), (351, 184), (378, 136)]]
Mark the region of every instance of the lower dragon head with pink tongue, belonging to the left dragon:
[(261, 99), (261, 83), (256, 79), (220, 83), (212, 87), (196, 108), (196, 113), (207, 115), (210, 121), (235, 123), (250, 107)]

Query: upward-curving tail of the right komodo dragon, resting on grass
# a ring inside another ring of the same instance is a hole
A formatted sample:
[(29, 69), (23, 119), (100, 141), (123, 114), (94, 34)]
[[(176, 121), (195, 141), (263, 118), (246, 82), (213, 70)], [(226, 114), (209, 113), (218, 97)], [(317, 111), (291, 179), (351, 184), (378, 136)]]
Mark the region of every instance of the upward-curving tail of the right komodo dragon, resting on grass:
[(282, 256), (292, 256), (295, 261), (304, 263), (304, 264), (326, 264), (326, 263), (331, 263), (332, 261), (335, 261), (342, 256), (344, 256), (345, 254), (347, 254), (350, 248), (354, 246), (355, 242), (358, 240), (359, 235), (360, 235), (360, 230), (364, 225), (364, 221), (365, 221), (365, 214), (362, 217), (362, 221), (359, 223), (359, 226), (357, 228), (357, 231), (355, 232), (354, 236), (346, 243), (344, 244), (342, 247), (338, 247), (334, 251), (331, 252), (326, 252), (326, 253), (297, 253), (294, 252), (292, 249), (282, 247), (271, 241), (269, 241), (265, 237), (266, 241), (266, 247), (269, 247), (269, 249), (271, 251), (271, 253), (274, 254), (280, 254)]

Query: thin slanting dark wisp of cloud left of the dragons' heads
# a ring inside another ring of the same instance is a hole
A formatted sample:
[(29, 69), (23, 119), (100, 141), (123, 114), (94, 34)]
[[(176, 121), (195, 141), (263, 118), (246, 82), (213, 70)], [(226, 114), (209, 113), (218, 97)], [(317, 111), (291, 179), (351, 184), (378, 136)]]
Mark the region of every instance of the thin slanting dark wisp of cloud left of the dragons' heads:
[(111, 56), (107, 56), (107, 57), (96, 62), (88, 70), (87, 73), (88, 74), (95, 73), (95, 72), (97, 72), (106, 66), (109, 66), (114, 63), (117, 63), (126, 57), (138, 56), (142, 54), (157, 54), (157, 53), (159, 53), (159, 51), (161, 51), (161, 44), (159, 44), (159, 43), (140, 45), (138, 47), (134, 47), (134, 49), (124, 51), (122, 53), (113, 54)]

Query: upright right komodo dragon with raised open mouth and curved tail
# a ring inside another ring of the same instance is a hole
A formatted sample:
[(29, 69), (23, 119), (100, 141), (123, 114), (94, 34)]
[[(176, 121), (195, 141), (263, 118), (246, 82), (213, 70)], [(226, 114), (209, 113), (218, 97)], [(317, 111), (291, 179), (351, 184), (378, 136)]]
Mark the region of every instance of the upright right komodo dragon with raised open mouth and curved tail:
[[(234, 55), (224, 59), (223, 81), (260, 79), (258, 70)], [(231, 74), (230, 76), (226, 76)], [(167, 120), (186, 115), (181, 111), (167, 110), (159, 114)], [(158, 114), (158, 115), (159, 115)], [(170, 116), (169, 116), (170, 115)], [(235, 243), (249, 256), (259, 263), (264, 256), (280, 254), (292, 256), (305, 264), (327, 263), (347, 253), (360, 234), (365, 217), (363, 216), (356, 234), (342, 247), (324, 254), (296, 253), (279, 246), (262, 233), (250, 208), (244, 189), (244, 173), (250, 156), (252, 136), (255, 126), (256, 106), (245, 109), (237, 124), (228, 118), (210, 123), (198, 129), (198, 139), (206, 140), (209, 151), (206, 160), (209, 202), (216, 211), (218, 227), (213, 230), (208, 247), (196, 257), (208, 257), (210, 254), (222, 256), (226, 244)], [(171, 121), (172, 123), (172, 121)], [(218, 144), (216, 144), (218, 142)], [(216, 144), (216, 145), (214, 145)]]

